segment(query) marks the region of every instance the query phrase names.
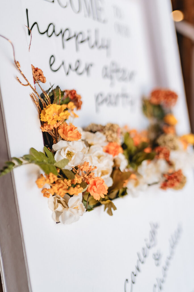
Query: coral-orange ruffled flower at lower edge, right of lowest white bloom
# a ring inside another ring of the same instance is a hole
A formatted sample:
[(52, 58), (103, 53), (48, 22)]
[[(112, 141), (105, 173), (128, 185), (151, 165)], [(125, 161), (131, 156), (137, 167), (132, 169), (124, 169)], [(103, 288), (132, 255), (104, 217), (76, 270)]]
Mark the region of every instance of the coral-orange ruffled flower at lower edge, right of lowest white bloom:
[(104, 195), (108, 193), (108, 187), (102, 178), (92, 178), (89, 183), (88, 192), (95, 200), (99, 201), (100, 197), (104, 198)]

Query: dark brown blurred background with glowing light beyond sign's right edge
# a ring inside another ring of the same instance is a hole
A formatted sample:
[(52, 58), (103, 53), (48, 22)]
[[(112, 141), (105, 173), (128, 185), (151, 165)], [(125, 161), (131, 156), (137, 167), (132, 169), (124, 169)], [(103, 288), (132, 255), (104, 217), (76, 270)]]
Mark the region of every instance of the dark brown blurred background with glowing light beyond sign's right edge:
[(172, 0), (191, 129), (194, 133), (194, 0)]

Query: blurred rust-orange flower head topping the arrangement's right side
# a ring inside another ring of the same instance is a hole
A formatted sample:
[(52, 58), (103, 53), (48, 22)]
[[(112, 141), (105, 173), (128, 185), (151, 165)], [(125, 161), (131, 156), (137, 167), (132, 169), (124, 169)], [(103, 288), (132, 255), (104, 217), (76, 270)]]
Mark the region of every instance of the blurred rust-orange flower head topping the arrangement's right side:
[(174, 91), (165, 89), (156, 89), (151, 92), (150, 102), (153, 105), (163, 104), (165, 107), (171, 107), (177, 102), (178, 95)]

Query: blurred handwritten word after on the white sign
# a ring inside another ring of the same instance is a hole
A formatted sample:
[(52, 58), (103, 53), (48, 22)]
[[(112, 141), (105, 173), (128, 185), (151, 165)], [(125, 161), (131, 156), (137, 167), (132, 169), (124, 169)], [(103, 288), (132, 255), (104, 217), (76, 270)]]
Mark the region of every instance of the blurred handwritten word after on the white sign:
[(135, 72), (129, 71), (127, 68), (120, 67), (117, 62), (112, 61), (110, 65), (105, 65), (102, 68), (102, 78), (109, 79), (110, 85), (113, 85), (115, 81), (130, 82), (134, 79)]

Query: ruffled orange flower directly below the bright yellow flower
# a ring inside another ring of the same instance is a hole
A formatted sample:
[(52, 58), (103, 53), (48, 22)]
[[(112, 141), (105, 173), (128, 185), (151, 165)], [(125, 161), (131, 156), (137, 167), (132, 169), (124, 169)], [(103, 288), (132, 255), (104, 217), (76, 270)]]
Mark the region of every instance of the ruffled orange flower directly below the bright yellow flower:
[(66, 141), (77, 141), (81, 139), (81, 133), (77, 130), (77, 127), (70, 124), (62, 124), (58, 129), (58, 133), (62, 139)]

